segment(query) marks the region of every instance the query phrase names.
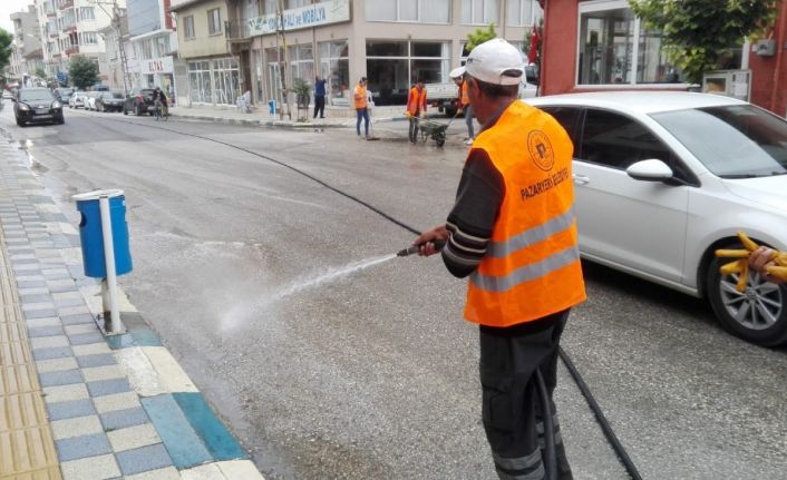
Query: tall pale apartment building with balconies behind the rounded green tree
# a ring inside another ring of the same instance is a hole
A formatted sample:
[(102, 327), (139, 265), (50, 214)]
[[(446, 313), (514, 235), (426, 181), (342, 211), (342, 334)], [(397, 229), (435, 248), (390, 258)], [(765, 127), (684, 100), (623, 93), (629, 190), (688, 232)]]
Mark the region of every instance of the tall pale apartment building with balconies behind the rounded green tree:
[(43, 63), (51, 77), (68, 71), (71, 56), (82, 55), (98, 65), (99, 80), (107, 81), (106, 45), (99, 31), (125, 9), (126, 0), (35, 0), (41, 26)]

